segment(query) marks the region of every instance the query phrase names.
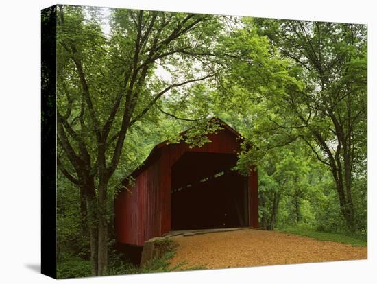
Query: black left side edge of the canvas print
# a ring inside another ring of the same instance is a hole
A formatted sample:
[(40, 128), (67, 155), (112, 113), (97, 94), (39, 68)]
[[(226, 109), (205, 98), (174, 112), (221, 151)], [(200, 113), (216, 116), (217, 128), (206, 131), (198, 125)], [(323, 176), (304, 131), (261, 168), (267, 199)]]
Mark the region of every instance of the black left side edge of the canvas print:
[[(41, 16), (41, 265), (54, 279), (56, 269), (56, 7)], [(47, 21), (42, 21), (42, 17)]]

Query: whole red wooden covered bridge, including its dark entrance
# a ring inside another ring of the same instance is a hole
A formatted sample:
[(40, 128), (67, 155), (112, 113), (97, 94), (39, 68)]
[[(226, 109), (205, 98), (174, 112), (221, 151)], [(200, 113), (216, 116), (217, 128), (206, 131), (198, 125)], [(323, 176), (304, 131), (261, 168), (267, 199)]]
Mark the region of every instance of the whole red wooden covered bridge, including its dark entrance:
[[(143, 246), (171, 230), (258, 228), (258, 177), (241, 176), (236, 165), (241, 136), (223, 121), (211, 142), (190, 148), (162, 142), (131, 176), (131, 192), (115, 200), (119, 244)], [(254, 166), (252, 166), (254, 167)]]

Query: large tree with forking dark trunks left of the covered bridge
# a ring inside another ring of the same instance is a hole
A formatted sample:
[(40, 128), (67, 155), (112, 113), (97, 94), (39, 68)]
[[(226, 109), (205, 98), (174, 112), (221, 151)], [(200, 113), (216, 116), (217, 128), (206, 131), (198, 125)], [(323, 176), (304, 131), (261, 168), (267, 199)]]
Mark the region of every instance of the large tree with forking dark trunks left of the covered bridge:
[[(58, 8), (58, 167), (80, 189), (93, 275), (107, 273), (108, 185), (127, 134), (164, 95), (212, 76), (193, 72), (192, 54), (210, 52), (219, 29), (214, 16), (114, 9), (106, 35), (101, 12)], [(174, 71), (170, 80), (158, 65)]]

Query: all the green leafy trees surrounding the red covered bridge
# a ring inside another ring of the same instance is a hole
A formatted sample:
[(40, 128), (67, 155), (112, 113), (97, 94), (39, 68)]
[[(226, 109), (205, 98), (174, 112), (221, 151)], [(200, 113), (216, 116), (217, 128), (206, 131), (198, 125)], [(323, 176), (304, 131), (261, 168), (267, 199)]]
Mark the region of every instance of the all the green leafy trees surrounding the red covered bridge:
[(261, 226), (367, 234), (365, 25), (54, 12), (60, 276), (124, 273), (120, 181), (161, 141), (208, 142), (212, 117), (244, 137), (234, 170), (257, 165)]

